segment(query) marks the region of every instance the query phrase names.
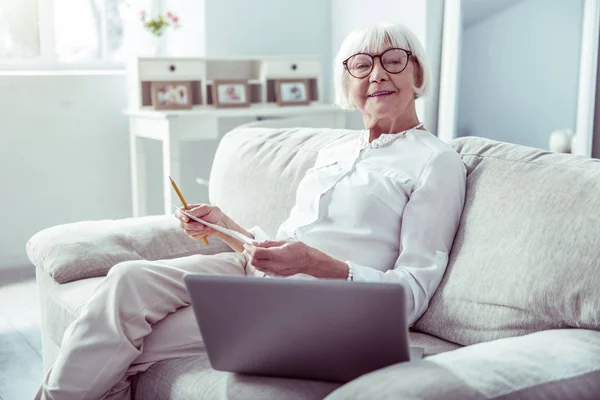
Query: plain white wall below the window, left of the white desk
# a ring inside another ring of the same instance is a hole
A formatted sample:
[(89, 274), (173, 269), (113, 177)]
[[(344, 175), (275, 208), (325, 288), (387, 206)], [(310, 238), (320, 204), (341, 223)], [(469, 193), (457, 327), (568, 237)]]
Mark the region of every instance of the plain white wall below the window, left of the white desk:
[(131, 213), (124, 75), (0, 76), (0, 267), (40, 229)]

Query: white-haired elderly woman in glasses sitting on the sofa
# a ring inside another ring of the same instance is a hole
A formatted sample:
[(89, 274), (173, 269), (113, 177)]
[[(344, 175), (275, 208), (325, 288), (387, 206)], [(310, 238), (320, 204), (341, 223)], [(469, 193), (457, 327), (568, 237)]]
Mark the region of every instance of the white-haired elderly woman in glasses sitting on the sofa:
[(423, 48), (405, 28), (351, 33), (335, 61), (337, 101), (358, 108), (366, 129), (320, 151), (277, 240), (258, 227), (244, 229), (216, 206), (190, 212), (254, 245), (176, 212), (190, 237), (216, 236), (235, 252), (116, 265), (65, 333), (39, 397), (129, 398), (129, 376), (202, 351), (186, 273), (397, 283), (410, 293), (412, 325), (442, 279), (465, 195), (458, 154), (427, 132), (415, 111), (428, 80)]

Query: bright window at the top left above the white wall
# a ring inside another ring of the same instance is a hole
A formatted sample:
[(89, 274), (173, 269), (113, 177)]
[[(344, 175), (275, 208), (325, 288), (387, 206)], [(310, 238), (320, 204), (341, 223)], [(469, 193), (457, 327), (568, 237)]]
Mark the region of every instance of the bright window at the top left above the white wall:
[(131, 0), (0, 0), (0, 64), (121, 64)]

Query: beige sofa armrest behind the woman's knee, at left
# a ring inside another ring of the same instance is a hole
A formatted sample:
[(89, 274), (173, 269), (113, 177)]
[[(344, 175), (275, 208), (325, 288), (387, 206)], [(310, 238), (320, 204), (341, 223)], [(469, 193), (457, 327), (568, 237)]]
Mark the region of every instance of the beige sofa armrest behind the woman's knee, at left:
[(27, 256), (58, 283), (105, 276), (115, 264), (129, 260), (161, 260), (192, 254), (232, 251), (219, 239), (187, 237), (173, 215), (58, 225), (27, 242)]

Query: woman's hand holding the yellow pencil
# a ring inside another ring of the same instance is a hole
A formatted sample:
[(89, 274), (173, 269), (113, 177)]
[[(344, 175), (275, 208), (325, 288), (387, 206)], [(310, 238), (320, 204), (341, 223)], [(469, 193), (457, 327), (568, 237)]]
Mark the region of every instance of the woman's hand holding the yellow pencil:
[[(200, 218), (211, 224), (219, 225), (224, 228), (228, 227), (227, 220), (230, 219), (219, 207), (211, 206), (208, 204), (190, 204), (190, 209), (186, 212), (194, 217)], [(185, 234), (195, 240), (203, 240), (206, 236), (217, 236), (221, 238), (221, 233), (217, 232), (213, 228), (209, 228), (200, 222), (194, 221), (187, 217), (180, 208), (175, 211), (175, 217), (179, 219), (180, 226), (185, 231)]]

